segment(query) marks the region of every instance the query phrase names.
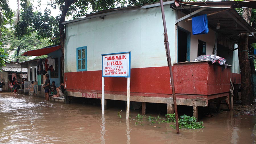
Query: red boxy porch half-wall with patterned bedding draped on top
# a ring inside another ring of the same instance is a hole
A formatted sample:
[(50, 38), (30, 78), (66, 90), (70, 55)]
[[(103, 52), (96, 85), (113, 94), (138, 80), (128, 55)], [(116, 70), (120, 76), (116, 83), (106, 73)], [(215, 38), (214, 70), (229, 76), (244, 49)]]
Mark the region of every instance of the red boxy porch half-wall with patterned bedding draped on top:
[(213, 95), (229, 91), (230, 68), (208, 62), (174, 64), (177, 94)]

